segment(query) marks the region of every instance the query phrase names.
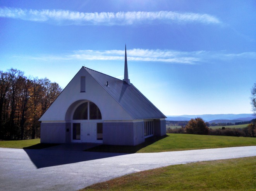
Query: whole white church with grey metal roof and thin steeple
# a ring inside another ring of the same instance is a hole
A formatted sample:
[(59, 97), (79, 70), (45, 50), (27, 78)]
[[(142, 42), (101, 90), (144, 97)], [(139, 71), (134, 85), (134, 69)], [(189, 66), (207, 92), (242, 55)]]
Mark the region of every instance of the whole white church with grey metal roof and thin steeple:
[(125, 46), (124, 79), (82, 67), (39, 119), (41, 143), (137, 145), (166, 135), (165, 118), (130, 83)]

